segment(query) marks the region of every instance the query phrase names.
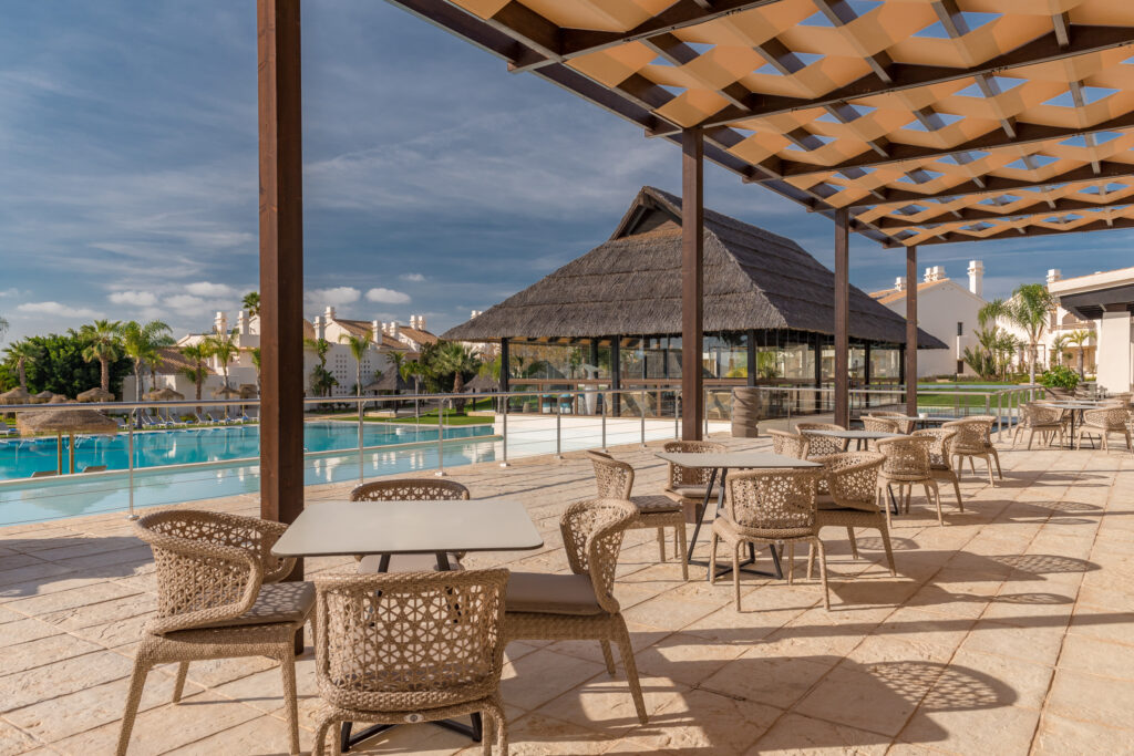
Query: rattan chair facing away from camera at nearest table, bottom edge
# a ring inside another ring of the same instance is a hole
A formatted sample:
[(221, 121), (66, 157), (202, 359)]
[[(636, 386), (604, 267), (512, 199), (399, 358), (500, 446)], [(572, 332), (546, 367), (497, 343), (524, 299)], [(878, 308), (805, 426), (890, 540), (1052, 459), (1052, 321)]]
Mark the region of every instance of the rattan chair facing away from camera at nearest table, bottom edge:
[[(508, 570), (330, 575), (315, 578), (313, 755), (341, 722), (403, 724), (483, 717), (485, 755), (508, 753), (500, 672)], [(332, 734), (333, 751), (340, 751)]]

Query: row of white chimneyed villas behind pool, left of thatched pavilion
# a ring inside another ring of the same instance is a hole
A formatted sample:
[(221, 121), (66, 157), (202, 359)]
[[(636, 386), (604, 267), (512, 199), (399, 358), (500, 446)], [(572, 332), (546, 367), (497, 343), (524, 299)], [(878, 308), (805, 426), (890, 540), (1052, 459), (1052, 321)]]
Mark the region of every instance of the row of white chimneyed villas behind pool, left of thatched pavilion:
[[(162, 352), (162, 362), (156, 368), (156, 385), (151, 385), (149, 372), (143, 374), (143, 390), (150, 391), (154, 388), (169, 387), (186, 398), (196, 396), (196, 388), (183, 369), (191, 367), (188, 360), (180, 354), (183, 347), (201, 343), (213, 333), (234, 334), (234, 339), (239, 347), (237, 356), (228, 363), (228, 385), (232, 389), (242, 390), (248, 397), (256, 396), (256, 368), (252, 360), (252, 352), (260, 347), (260, 316), (248, 316), (245, 311), (239, 311), (236, 316), (235, 326), (229, 326), (228, 315), (217, 313), (213, 318), (213, 330), (209, 333), (188, 333), (177, 340), (177, 343)], [(327, 351), (327, 371), (335, 376), (338, 385), (331, 390), (332, 397), (353, 396), (356, 380), (356, 366), (350, 347), (342, 340), (348, 335), (358, 337), (363, 333), (371, 334), (371, 347), (362, 363), (363, 385), (374, 381), (375, 372), (390, 369), (388, 356), (393, 352), (405, 355), (406, 359), (416, 359), (421, 350), (430, 343), (437, 343), (438, 338), (425, 328), (424, 315), (411, 315), (409, 324), (403, 325), (396, 321), (358, 321), (340, 317), (335, 312), (335, 307), (327, 307), (322, 314), (311, 320), (304, 320), (304, 339), (324, 339), (329, 345)], [(308, 376), (319, 364), (319, 357), (311, 349), (304, 350), (304, 373)], [(217, 357), (212, 357), (206, 363), (209, 375), (205, 379), (201, 396), (204, 399), (213, 397), (214, 392), (223, 388), (223, 366)], [(307, 393), (311, 394), (310, 380)], [(134, 388), (134, 377), (127, 376), (122, 381), (122, 394), (126, 401), (133, 400), (137, 394)]]

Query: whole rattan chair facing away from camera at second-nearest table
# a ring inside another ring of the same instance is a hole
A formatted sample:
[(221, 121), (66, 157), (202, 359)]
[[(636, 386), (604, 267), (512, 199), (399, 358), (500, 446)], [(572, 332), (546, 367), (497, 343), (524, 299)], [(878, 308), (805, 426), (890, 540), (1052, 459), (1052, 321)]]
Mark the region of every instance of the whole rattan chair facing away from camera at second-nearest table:
[(728, 476), (725, 511), (712, 524), (709, 545), (709, 581), (717, 581), (717, 542), (733, 549), (733, 588), (736, 611), (741, 611), (741, 546), (769, 544), (787, 546), (787, 580), (794, 583), (795, 544), (813, 544), (819, 550), (823, 606), (831, 608), (827, 592), (827, 554), (819, 540), (815, 516), (815, 484), (819, 468), (769, 468), (742, 470)]

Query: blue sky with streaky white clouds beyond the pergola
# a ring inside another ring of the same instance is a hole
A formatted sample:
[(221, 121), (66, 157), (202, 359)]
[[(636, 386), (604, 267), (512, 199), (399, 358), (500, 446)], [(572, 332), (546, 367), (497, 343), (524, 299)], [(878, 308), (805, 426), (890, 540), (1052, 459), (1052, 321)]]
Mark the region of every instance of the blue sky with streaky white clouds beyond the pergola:
[[(307, 303), (454, 325), (609, 236), (635, 192), (679, 188), (661, 141), (374, 0), (307, 2)], [(256, 288), (255, 2), (18, 2), (0, 25), (0, 315), (8, 340), (93, 317), (211, 326)], [(824, 264), (831, 223), (709, 165), (706, 204)], [(1129, 264), (1110, 231), (921, 250), (985, 296), (1048, 267)], [(852, 281), (902, 250), (855, 237)]]

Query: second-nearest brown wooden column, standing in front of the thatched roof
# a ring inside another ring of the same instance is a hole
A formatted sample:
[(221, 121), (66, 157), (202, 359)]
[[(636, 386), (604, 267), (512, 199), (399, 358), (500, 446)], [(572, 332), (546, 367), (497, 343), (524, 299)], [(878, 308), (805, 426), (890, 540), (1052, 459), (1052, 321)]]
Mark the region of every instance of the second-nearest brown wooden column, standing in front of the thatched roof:
[(682, 131), (682, 439), (700, 441), (704, 418), (704, 136)]

